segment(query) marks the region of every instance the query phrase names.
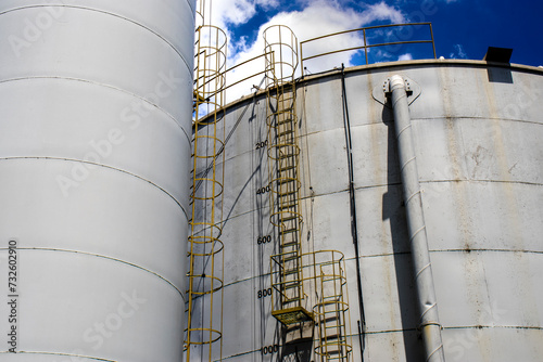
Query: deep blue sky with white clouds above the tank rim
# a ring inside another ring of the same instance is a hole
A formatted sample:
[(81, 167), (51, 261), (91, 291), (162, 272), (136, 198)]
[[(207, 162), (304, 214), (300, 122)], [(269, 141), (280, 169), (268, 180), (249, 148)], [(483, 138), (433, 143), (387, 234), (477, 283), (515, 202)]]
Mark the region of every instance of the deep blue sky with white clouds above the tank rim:
[[(288, 25), (299, 40), (306, 40), (334, 31), (402, 22), (431, 22), (438, 56), (482, 60), (492, 46), (513, 48), (512, 63), (543, 65), (543, 2), (540, 0), (214, 0), (211, 17), (228, 34), (229, 66), (263, 52), (262, 31), (270, 24)], [(368, 34), (368, 41), (429, 39), (427, 28), (403, 30), (404, 36), (374, 31)], [(359, 41), (362, 34), (353, 34), (334, 39), (333, 44), (315, 43), (314, 49), (308, 50), (348, 48)], [(369, 55), (370, 63), (431, 56), (428, 46), (376, 48)], [(363, 54), (351, 52), (306, 65), (315, 73), (341, 63), (349, 66), (361, 62), (364, 62)], [(249, 68), (242, 70), (250, 72)]]

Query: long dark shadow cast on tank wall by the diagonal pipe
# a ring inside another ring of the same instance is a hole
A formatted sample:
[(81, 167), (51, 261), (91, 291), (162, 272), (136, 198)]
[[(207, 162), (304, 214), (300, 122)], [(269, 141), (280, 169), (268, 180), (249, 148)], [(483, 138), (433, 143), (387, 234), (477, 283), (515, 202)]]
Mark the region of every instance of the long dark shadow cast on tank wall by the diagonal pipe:
[(415, 275), (411, 258), (406, 210), (403, 202), (402, 178), (392, 109), (383, 107), (383, 125), (388, 128), (387, 192), (382, 196), (382, 220), (390, 220), (394, 271), (397, 286), (397, 309), (402, 320), (405, 361), (424, 361), (424, 346), (418, 325), (418, 305)]

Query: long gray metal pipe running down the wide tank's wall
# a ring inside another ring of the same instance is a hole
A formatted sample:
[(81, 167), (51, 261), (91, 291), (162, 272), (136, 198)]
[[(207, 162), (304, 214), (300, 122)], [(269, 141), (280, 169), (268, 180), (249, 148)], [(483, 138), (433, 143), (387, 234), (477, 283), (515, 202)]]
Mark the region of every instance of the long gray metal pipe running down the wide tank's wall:
[(418, 182), (407, 91), (405, 81), (401, 76), (395, 75), (390, 79), (390, 93), (392, 109), (394, 112), (407, 228), (420, 309), (419, 328), (425, 342), (426, 361), (445, 361), (430, 254), (428, 251), (425, 217), (422, 214), (422, 199)]

